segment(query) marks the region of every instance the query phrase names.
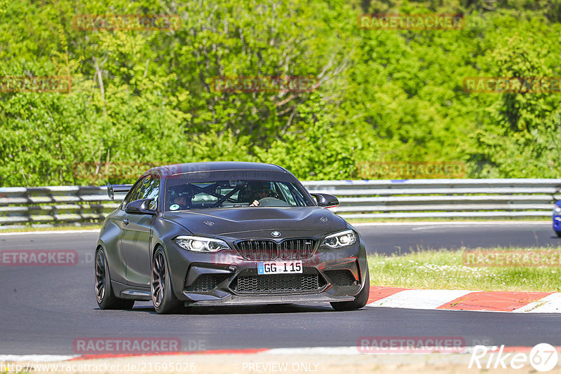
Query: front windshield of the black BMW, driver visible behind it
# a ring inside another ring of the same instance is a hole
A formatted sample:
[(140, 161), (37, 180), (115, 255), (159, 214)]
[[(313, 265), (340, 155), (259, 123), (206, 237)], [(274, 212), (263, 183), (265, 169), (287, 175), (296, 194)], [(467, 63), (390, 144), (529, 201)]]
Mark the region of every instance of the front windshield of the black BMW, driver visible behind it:
[(165, 210), (306, 207), (313, 203), (299, 183), (270, 179), (189, 180), (168, 177)]

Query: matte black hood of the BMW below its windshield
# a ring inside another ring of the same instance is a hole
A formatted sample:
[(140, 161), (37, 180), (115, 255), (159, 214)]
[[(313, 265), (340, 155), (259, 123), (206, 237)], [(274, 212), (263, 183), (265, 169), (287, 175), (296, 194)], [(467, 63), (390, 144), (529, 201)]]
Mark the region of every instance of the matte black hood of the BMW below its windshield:
[(195, 235), (229, 235), (260, 230), (344, 230), (346, 221), (321, 207), (251, 207), (165, 212), (164, 219), (179, 223)]

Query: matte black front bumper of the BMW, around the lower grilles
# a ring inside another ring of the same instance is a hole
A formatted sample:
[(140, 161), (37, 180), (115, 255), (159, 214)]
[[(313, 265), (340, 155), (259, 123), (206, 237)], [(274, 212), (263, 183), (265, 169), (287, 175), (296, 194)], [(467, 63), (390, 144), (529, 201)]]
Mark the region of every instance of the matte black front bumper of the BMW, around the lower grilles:
[(318, 247), (302, 274), (257, 275), (257, 262), (235, 249), (215, 254), (168, 251), (175, 296), (189, 305), (325, 303), (354, 300), (367, 268), (360, 240), (342, 249)]

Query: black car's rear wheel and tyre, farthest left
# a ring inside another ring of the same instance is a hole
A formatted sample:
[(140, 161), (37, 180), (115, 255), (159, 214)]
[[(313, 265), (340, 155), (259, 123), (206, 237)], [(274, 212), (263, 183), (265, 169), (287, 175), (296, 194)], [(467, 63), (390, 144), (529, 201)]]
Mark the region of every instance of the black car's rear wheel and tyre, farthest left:
[(135, 300), (118, 298), (111, 287), (111, 275), (103, 249), (95, 251), (95, 299), (100, 309), (133, 309)]

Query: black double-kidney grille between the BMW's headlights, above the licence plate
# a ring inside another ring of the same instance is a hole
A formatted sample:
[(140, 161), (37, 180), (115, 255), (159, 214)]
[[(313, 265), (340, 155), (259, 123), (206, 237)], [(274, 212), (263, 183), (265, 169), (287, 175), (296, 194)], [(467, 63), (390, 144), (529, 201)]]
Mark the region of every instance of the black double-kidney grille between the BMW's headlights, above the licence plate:
[(280, 243), (274, 240), (242, 240), (236, 243), (236, 249), (248, 260), (302, 260), (311, 257), (316, 243), (317, 240), (313, 239), (288, 239)]

